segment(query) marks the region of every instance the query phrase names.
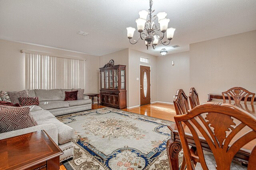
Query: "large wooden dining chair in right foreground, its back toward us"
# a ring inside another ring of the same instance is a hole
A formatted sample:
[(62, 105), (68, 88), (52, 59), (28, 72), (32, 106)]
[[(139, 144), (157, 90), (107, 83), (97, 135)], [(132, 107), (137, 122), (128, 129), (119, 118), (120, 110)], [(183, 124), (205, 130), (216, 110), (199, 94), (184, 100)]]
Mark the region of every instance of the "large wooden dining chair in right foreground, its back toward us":
[[(234, 166), (239, 170), (246, 169), (232, 162), (232, 159), (241, 147), (256, 139), (256, 118), (253, 115), (231, 104), (204, 103), (185, 115), (174, 116), (174, 119), (188, 170), (195, 169), (193, 162), (200, 162), (196, 164), (196, 167), (201, 166), (203, 170), (214, 168), (229, 170)], [(190, 152), (184, 127), (189, 128), (193, 135), (197, 156)], [(240, 136), (234, 139), (238, 133)], [(198, 134), (202, 134), (205, 138), (212, 154), (203, 152)], [(255, 169), (256, 162), (256, 144), (250, 145), (252, 145), (252, 152), (249, 157), (248, 170)]]

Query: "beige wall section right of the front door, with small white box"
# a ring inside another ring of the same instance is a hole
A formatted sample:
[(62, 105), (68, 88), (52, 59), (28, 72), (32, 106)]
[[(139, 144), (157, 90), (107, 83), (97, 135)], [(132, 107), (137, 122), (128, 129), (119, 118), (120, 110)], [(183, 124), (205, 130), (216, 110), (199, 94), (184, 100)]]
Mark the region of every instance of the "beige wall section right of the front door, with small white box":
[(189, 83), (189, 51), (157, 58), (158, 102), (173, 103), (173, 96), (180, 88), (188, 95)]

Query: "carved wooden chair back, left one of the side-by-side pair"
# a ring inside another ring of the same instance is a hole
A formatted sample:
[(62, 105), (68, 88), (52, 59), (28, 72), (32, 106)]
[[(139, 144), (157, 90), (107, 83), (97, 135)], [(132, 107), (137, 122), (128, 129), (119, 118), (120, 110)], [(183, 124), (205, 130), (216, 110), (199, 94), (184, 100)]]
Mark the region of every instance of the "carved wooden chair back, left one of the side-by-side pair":
[(188, 112), (188, 97), (182, 89), (177, 90), (173, 104), (177, 115), (183, 115)]

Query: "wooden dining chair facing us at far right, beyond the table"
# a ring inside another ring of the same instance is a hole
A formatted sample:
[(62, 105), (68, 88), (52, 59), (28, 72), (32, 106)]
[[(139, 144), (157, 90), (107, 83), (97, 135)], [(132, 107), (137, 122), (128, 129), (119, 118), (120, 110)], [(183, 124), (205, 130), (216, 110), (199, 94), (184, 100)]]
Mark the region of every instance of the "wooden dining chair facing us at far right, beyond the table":
[(248, 90), (242, 87), (233, 87), (227, 90), (226, 92), (222, 92), (223, 102), (226, 103), (226, 96), (228, 96), (228, 102), (231, 103), (231, 100), (234, 100), (236, 104), (240, 104), (241, 100), (244, 98), (244, 104), (247, 103), (247, 99), (249, 96), (252, 96), (251, 105), (253, 105), (255, 93), (249, 92)]

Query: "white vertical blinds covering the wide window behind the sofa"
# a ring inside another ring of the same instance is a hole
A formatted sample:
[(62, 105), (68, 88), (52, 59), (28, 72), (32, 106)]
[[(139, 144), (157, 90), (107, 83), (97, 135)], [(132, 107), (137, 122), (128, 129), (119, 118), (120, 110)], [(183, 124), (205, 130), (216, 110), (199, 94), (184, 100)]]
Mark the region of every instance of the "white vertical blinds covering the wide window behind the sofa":
[(26, 53), (26, 88), (84, 88), (85, 61)]

